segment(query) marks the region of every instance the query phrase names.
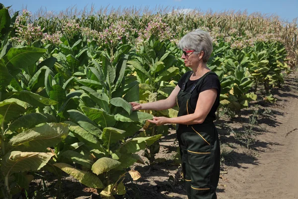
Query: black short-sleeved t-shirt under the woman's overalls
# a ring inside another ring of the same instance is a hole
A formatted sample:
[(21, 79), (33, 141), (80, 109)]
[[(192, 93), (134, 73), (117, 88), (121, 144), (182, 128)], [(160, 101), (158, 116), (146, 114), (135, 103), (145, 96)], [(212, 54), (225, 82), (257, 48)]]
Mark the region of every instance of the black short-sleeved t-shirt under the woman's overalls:
[[(185, 82), (186, 78), (189, 76), (190, 73), (191, 73), (191, 71), (186, 72), (179, 80), (178, 86), (180, 89), (182, 88), (183, 83)], [(198, 80), (188, 80), (188, 82), (185, 85), (185, 91), (186, 92), (189, 91), (191, 89), (192, 85), (196, 84), (199, 81), (199, 79)], [(199, 98), (199, 94), (201, 92), (209, 90), (209, 89), (218, 90), (218, 94), (217, 94), (216, 100), (215, 100), (210, 112), (208, 113), (204, 123), (208, 122), (208, 121), (216, 120), (215, 112), (220, 105), (220, 94), (221, 94), (221, 82), (219, 80), (219, 77), (215, 74), (207, 75), (205, 77), (205, 79), (203, 80), (203, 82), (201, 83), (201, 86), (198, 85), (197, 88), (193, 91), (193, 93), (190, 97), (190, 100), (189, 100), (190, 106), (192, 107), (192, 109), (195, 110), (197, 101)]]

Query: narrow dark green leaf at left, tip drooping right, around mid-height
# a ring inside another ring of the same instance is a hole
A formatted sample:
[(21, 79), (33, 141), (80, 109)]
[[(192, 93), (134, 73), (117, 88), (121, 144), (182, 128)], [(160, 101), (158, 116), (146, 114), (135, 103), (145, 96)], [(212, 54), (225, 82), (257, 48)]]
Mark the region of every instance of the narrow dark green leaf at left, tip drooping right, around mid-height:
[(45, 97), (42, 97), (38, 94), (32, 93), (30, 91), (19, 91), (19, 92), (9, 92), (5, 94), (7, 99), (15, 98), (27, 103), (30, 103), (32, 106), (45, 106), (45, 105), (56, 105), (58, 104), (57, 100), (51, 100)]

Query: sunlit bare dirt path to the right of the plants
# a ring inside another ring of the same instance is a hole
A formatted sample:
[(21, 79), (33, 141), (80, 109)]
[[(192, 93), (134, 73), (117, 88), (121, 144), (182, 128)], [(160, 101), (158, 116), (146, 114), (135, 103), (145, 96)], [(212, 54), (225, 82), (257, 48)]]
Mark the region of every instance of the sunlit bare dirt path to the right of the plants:
[(275, 122), (257, 137), (258, 157), (228, 169), (219, 199), (298, 199), (298, 81), (292, 77), (275, 95)]

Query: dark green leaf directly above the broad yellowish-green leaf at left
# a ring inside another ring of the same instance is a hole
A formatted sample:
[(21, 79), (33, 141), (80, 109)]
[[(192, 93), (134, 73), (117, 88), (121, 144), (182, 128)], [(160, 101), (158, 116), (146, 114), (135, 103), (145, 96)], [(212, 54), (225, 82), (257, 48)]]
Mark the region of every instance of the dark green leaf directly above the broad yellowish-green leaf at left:
[(56, 122), (56, 118), (47, 113), (29, 113), (14, 120), (7, 130), (15, 131), (18, 128), (33, 128), (37, 124), (46, 122)]

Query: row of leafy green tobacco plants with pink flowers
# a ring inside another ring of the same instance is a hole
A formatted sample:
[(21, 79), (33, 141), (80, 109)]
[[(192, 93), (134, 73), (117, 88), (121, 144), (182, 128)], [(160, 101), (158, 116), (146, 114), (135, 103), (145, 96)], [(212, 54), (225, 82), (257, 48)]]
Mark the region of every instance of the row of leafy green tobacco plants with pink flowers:
[[(126, 174), (139, 176), (128, 168), (144, 163), (136, 152), (145, 150), (152, 165), (157, 140), (168, 132), (147, 119), (174, 117), (178, 110), (132, 111), (129, 102), (169, 96), (188, 70), (175, 44), (183, 34), (171, 33), (175, 29), (162, 21), (166, 16), (123, 16), (130, 19), (125, 23), (112, 15), (103, 17), (105, 25), (92, 16), (66, 18), (51, 29), (38, 26), (43, 18), (31, 21), (29, 12), (10, 17), (8, 9), (0, 4), (1, 196), (28, 189), (28, 171), (36, 170), (54, 173), (58, 186), (66, 172), (102, 198), (125, 194)], [(214, 39), (208, 65), (221, 80), (221, 105), (240, 115), (261, 85), (273, 100), (270, 89), (290, 72), (283, 43), (232, 45), (222, 34)]]

